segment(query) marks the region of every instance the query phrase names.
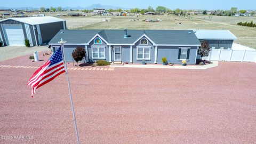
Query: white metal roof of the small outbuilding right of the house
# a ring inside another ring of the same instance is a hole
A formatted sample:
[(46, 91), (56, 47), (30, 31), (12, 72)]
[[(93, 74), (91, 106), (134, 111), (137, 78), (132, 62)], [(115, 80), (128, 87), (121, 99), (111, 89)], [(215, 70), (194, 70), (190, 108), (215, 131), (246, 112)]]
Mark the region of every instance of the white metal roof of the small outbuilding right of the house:
[(237, 39), (229, 30), (194, 30), (194, 32), (198, 39)]

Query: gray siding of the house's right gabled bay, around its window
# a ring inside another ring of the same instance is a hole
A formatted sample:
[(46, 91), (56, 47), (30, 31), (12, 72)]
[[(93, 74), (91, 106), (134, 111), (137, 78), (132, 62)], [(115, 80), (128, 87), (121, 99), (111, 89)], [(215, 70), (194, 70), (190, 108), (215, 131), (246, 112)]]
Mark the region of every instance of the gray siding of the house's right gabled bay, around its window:
[(155, 46), (153, 46), (153, 44), (148, 41), (148, 44), (147, 45), (140, 45), (140, 40), (135, 43), (135, 45), (132, 46), (132, 60), (133, 60), (133, 63), (141, 63), (142, 60), (137, 60), (137, 46), (139, 47), (148, 47), (150, 46), (150, 60), (145, 60), (146, 63), (154, 63), (155, 61)]

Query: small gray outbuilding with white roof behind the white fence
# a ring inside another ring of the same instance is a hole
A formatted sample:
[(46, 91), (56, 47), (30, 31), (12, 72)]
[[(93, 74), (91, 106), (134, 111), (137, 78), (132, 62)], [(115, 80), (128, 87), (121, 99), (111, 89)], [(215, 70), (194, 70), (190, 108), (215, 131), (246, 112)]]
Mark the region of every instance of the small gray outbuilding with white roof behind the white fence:
[(206, 40), (211, 49), (231, 49), (237, 39), (229, 30), (194, 30), (199, 41)]

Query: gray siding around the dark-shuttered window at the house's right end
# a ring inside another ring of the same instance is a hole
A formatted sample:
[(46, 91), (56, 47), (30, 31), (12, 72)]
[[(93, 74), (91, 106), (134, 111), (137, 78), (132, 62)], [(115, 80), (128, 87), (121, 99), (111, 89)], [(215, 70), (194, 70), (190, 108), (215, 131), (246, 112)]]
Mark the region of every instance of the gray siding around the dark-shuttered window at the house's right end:
[(162, 58), (166, 57), (170, 63), (180, 64), (181, 60), (178, 59), (179, 47), (190, 47), (189, 60), (187, 61), (190, 65), (195, 65), (196, 59), (196, 46), (158, 46), (157, 47), (157, 63), (162, 63)]

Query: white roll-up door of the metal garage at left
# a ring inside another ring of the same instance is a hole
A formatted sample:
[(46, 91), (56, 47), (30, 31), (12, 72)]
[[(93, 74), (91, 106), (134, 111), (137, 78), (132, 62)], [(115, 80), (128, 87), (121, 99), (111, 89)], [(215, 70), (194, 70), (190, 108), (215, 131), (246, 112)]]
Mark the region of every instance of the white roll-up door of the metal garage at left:
[(9, 45), (25, 45), (25, 38), (21, 25), (4, 25), (4, 30)]

